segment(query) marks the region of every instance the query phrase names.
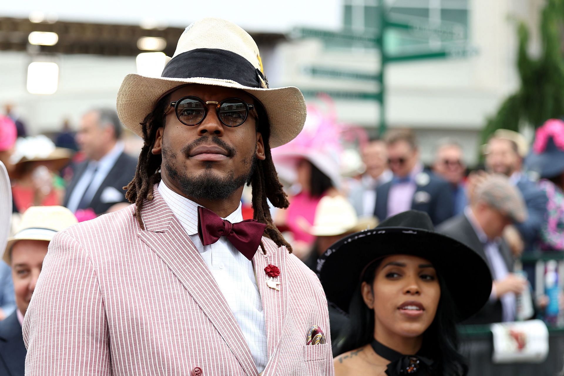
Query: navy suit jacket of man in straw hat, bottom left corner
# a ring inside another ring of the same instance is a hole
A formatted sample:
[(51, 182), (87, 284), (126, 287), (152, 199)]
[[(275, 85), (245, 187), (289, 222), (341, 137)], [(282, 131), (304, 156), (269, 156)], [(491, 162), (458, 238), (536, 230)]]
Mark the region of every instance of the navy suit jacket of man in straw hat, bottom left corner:
[(0, 375), (24, 376), (26, 353), (21, 325), (14, 311), (0, 321)]

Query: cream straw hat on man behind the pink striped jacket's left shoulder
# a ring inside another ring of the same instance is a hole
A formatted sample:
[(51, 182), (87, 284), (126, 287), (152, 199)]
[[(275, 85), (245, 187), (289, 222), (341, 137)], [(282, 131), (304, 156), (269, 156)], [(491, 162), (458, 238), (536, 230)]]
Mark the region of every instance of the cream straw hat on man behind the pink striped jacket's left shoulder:
[(63, 206), (31, 206), (21, 216), (14, 236), (8, 238), (2, 259), (10, 264), (12, 246), (20, 240), (51, 241), (55, 234), (77, 224), (72, 211)]

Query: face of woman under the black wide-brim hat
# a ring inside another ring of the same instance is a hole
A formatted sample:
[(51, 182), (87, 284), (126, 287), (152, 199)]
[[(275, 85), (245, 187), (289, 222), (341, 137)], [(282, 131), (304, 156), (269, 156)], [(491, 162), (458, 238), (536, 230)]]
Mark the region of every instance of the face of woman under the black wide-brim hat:
[(374, 309), (374, 333), (379, 340), (413, 338), (435, 319), (440, 286), (428, 260), (393, 255), (382, 260), (372, 286), (363, 282), (362, 294), (364, 303)]

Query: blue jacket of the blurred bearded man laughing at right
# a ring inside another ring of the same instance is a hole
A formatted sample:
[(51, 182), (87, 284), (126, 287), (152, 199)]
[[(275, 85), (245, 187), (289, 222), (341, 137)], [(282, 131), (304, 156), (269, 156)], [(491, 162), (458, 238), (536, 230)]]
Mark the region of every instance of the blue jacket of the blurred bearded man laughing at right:
[(516, 186), (523, 195), (528, 215), (525, 222), (515, 224), (515, 227), (525, 241), (525, 251), (531, 251), (534, 250), (539, 240), (540, 230), (546, 223), (548, 198), (543, 191), (537, 188), (536, 183), (525, 175), (521, 176)]

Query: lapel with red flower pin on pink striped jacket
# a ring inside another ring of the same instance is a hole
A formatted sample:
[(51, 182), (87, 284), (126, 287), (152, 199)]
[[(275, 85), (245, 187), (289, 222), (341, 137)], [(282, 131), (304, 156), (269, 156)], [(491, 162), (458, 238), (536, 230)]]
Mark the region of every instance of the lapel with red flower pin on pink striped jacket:
[[(262, 308), (265, 312), (266, 338), (268, 347), (268, 364), (265, 368), (265, 375), (268, 370), (276, 367), (277, 351), (279, 350), (284, 322), (288, 313), (288, 295), (290, 278), (288, 278), (286, 268), (285, 247), (278, 248), (270, 240), (263, 238), (266, 255), (259, 248), (253, 258), (255, 275), (257, 276), (258, 291), (261, 294)], [(280, 268), (280, 276), (277, 277), (280, 291), (271, 289), (266, 285), (268, 276), (265, 267), (272, 264)]]

